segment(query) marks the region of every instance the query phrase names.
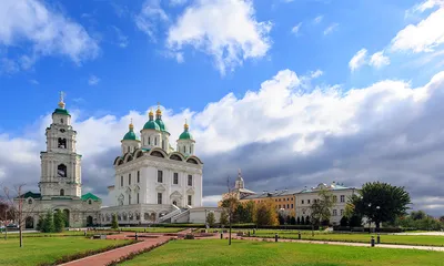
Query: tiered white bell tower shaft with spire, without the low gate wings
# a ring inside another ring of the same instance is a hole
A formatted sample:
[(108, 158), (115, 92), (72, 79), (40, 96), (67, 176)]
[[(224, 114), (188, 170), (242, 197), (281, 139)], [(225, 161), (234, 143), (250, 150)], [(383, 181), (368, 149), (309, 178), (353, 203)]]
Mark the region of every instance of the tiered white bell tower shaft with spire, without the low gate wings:
[(47, 127), (47, 151), (40, 153), (40, 193), (43, 200), (52, 197), (81, 197), (81, 155), (75, 153), (77, 132), (71, 126), (71, 115), (64, 109), (63, 92), (59, 108), (52, 113)]

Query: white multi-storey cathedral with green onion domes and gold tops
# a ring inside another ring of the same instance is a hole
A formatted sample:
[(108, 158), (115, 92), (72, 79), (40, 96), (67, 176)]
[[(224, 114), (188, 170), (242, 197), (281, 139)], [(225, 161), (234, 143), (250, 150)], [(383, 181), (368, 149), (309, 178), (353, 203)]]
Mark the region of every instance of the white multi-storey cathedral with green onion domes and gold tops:
[(170, 145), (170, 133), (160, 108), (150, 111), (140, 137), (131, 123), (115, 157), (113, 184), (108, 187), (111, 206), (101, 209), (101, 223), (119, 224), (190, 222), (202, 207), (202, 161), (194, 155), (195, 141), (184, 124)]

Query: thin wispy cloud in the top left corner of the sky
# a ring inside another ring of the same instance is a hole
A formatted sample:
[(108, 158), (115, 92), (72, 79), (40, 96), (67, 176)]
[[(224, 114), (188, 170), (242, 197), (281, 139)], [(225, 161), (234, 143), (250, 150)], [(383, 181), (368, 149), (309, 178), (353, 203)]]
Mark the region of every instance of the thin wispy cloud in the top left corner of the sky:
[(82, 25), (36, 0), (0, 1), (0, 44), (32, 44), (32, 58), (65, 55), (74, 63), (93, 59), (99, 44)]

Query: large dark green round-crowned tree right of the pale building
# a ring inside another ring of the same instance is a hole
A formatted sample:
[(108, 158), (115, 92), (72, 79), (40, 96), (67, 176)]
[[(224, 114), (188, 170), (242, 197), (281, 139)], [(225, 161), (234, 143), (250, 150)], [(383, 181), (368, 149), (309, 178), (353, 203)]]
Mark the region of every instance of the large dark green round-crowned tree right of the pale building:
[(376, 231), (381, 223), (394, 222), (396, 217), (405, 215), (411, 204), (404, 187), (381, 182), (365, 183), (359, 195), (351, 197), (351, 202), (354, 213), (375, 223)]

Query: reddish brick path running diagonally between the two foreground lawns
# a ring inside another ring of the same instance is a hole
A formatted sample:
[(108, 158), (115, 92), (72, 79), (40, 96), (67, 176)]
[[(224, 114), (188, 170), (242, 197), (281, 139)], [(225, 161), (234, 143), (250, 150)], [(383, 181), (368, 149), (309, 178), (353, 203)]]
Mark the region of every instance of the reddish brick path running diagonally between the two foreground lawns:
[[(92, 255), (89, 257), (84, 257), (81, 259), (77, 259), (70, 263), (62, 264), (62, 266), (99, 266), (99, 265), (107, 265), (113, 260), (120, 259), (122, 256), (127, 256), (133, 252), (139, 252), (149, 247), (152, 247), (154, 245), (163, 244), (170, 239), (178, 238), (178, 235), (181, 234), (186, 234), (191, 232), (191, 229), (185, 229), (182, 232), (179, 232), (178, 234), (169, 234), (170, 236), (163, 236), (161, 234), (150, 234), (150, 233), (138, 233), (139, 237), (139, 243), (132, 244), (129, 246), (124, 247), (119, 247), (109, 252), (100, 253), (97, 255)], [(134, 235), (134, 232), (122, 232), (119, 235), (108, 235), (107, 239), (131, 239), (133, 237), (128, 237), (130, 235)], [(148, 237), (142, 237), (143, 235), (148, 236), (158, 236), (155, 238), (148, 238)], [(174, 236), (175, 235), (175, 236)]]

